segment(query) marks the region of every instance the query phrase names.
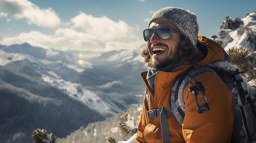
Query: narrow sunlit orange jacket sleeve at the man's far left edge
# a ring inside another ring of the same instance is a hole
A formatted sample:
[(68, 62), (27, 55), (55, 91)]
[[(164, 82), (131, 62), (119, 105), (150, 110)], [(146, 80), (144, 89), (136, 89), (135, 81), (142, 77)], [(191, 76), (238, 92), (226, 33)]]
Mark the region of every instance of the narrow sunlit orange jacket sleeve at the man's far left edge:
[(148, 117), (147, 117), (147, 113), (146, 113), (148, 111), (148, 105), (147, 105), (147, 101), (146, 101), (146, 93), (147, 93), (147, 89), (145, 90), (142, 111), (141, 111), (141, 115), (139, 117), (136, 143), (147, 143), (144, 140), (144, 128), (148, 123)]

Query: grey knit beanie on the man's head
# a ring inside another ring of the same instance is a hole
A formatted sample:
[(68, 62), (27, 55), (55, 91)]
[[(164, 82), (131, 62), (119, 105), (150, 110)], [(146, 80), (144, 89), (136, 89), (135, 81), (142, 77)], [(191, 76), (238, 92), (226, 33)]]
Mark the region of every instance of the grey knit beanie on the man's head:
[(191, 13), (182, 8), (165, 7), (152, 16), (148, 27), (153, 20), (159, 18), (168, 20), (175, 25), (184, 36), (189, 37), (189, 41), (193, 47), (196, 47), (199, 26), (195, 13)]

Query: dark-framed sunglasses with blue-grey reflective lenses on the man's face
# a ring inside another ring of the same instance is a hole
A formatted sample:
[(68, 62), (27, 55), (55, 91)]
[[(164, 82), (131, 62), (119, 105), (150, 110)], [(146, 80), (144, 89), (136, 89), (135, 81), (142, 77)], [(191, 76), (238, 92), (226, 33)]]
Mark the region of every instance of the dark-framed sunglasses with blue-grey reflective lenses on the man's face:
[(157, 33), (157, 36), (159, 38), (164, 40), (170, 39), (173, 32), (182, 35), (180, 31), (177, 31), (176, 29), (171, 29), (170, 27), (158, 27), (155, 29), (145, 29), (143, 31), (143, 36), (146, 42), (150, 41), (154, 31), (155, 33)]

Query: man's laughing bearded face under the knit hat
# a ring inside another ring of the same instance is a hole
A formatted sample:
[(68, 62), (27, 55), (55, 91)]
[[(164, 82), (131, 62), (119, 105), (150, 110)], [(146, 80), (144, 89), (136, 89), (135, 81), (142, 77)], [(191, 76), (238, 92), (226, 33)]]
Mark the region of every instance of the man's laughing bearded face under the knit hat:
[[(176, 26), (164, 19), (156, 19), (150, 24), (149, 29), (158, 27), (171, 27), (176, 29)], [(156, 31), (150, 41), (147, 42), (147, 48), (150, 53), (149, 66), (151, 68), (163, 68), (174, 61), (174, 53), (180, 44), (180, 35), (172, 32), (170, 39), (161, 39), (157, 36)]]

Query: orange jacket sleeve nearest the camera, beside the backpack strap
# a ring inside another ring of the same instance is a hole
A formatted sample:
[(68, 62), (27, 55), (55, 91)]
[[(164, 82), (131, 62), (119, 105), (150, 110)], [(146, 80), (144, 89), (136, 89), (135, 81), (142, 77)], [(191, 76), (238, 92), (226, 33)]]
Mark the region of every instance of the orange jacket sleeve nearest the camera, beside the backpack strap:
[[(232, 93), (216, 73), (206, 72), (195, 77), (201, 81), (210, 110), (199, 114), (195, 98), (188, 88), (184, 89), (185, 117), (182, 133), (186, 143), (230, 143), (234, 107)], [(200, 106), (204, 104), (201, 93), (198, 94)]]

